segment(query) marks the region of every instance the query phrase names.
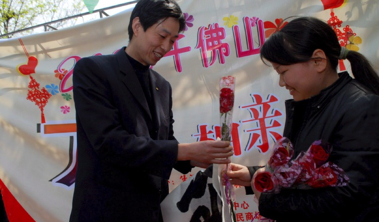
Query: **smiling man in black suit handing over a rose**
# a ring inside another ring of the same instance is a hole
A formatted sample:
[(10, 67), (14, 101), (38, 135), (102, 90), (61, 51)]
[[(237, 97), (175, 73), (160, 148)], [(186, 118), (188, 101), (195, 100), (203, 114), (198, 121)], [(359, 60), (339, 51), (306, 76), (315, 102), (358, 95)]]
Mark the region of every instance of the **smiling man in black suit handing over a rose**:
[(186, 174), (229, 161), (227, 141), (176, 141), (171, 86), (149, 69), (184, 26), (175, 1), (140, 0), (128, 46), (75, 65), (78, 155), (70, 221), (162, 221), (173, 168)]

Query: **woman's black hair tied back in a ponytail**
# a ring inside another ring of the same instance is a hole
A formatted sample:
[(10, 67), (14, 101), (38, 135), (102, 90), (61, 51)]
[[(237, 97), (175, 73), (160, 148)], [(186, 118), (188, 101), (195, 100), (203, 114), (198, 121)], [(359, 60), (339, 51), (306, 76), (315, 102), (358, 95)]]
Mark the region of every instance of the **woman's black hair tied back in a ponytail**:
[[(281, 24), (278, 27), (281, 27)], [(330, 66), (337, 70), (341, 45), (336, 32), (320, 19), (299, 17), (266, 40), (261, 47), (260, 57), (266, 65), (266, 61), (292, 65), (309, 61), (316, 49), (323, 50)], [(379, 95), (379, 77), (364, 55), (349, 50), (346, 59), (350, 62), (354, 78)]]

